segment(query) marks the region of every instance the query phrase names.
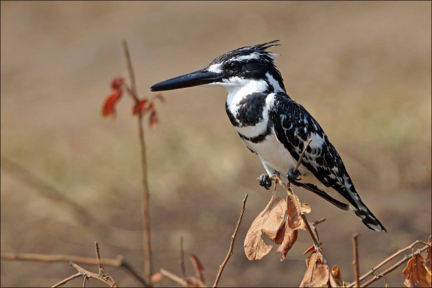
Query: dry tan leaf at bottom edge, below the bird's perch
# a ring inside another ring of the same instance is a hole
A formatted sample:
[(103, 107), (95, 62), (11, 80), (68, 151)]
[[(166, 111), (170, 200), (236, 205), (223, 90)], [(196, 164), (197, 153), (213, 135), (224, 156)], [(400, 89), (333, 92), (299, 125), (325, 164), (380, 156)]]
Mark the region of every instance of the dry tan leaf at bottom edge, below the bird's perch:
[(328, 287), (330, 269), (322, 263), (322, 254), (318, 250), (306, 259), (307, 270), (300, 287)]

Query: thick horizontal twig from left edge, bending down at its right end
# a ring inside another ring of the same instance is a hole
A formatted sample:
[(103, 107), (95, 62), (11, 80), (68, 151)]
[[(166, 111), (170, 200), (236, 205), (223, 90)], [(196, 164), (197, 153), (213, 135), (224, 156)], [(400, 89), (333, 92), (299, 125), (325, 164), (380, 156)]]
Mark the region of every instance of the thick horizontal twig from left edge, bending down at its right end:
[[(16, 261), (40, 261), (40, 262), (75, 262), (86, 265), (98, 265), (97, 259), (88, 258), (88, 257), (80, 257), (73, 255), (62, 255), (62, 254), (34, 254), (34, 253), (9, 253), (1, 255), (1, 259), (3, 260), (16, 260)], [(102, 265), (108, 265), (117, 268), (126, 269), (134, 278), (139, 280), (139, 282), (145, 286), (149, 287), (150, 285), (147, 281), (141, 277), (138, 272), (128, 263), (126, 262), (122, 256), (117, 257), (117, 259), (101, 259)]]

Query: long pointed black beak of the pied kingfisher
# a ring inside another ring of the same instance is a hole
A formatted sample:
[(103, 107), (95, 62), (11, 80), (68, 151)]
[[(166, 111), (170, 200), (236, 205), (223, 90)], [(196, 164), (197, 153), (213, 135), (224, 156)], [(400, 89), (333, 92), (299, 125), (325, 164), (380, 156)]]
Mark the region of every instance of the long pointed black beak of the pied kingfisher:
[(178, 77), (159, 82), (150, 87), (151, 91), (164, 91), (178, 88), (186, 88), (192, 86), (198, 86), (203, 84), (209, 84), (213, 82), (219, 82), (221, 80), (221, 74), (207, 71), (206, 68), (201, 70), (181, 75)]

